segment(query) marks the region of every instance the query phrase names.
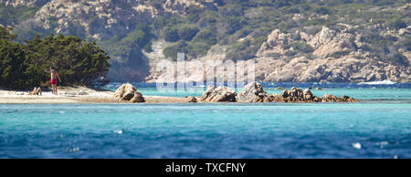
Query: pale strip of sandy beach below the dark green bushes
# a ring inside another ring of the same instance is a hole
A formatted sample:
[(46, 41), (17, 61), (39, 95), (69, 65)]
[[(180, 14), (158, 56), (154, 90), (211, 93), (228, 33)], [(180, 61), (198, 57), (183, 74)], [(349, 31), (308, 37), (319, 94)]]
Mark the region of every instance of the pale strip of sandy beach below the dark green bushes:
[[(28, 95), (28, 91), (0, 89), (0, 104), (35, 104), (35, 103), (121, 103), (112, 98), (112, 91), (96, 90), (85, 87), (62, 87), (58, 95), (43, 91), (41, 96)], [(147, 103), (186, 102), (185, 98), (144, 96)], [(124, 102), (127, 103), (127, 102)]]

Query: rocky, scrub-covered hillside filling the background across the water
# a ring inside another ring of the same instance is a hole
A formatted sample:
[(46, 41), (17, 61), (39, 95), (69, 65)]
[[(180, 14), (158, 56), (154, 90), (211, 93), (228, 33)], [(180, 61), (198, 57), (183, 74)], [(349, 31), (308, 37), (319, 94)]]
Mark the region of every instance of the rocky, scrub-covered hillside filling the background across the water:
[(20, 41), (96, 40), (111, 56), (111, 80), (156, 81), (157, 62), (184, 52), (255, 59), (261, 81), (410, 82), (410, 8), (408, 0), (0, 0), (0, 24)]

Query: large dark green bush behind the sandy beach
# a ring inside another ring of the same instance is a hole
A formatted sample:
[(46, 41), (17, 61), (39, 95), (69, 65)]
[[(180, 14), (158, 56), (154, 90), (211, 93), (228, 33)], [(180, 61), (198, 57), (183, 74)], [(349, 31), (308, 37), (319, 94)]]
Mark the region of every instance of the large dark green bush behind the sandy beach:
[(63, 85), (90, 84), (109, 70), (110, 57), (96, 42), (81, 40), (79, 36), (39, 35), (24, 43), (14, 42), (17, 37), (10, 28), (0, 26), (0, 86), (26, 89), (47, 86), (49, 74), (45, 69), (54, 67)]

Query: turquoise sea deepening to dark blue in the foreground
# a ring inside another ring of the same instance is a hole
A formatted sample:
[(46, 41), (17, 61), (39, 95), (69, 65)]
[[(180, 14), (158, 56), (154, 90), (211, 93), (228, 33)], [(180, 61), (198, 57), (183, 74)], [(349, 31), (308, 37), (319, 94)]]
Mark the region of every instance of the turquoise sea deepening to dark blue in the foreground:
[(0, 104), (0, 158), (411, 158), (411, 83), (291, 86), (362, 102)]

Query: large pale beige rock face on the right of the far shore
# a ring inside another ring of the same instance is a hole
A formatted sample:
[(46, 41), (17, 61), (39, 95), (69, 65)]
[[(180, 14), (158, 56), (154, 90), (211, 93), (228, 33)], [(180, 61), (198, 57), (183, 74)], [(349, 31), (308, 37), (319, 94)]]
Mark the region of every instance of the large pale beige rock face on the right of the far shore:
[[(411, 79), (409, 66), (393, 65), (384, 59), (372, 57), (369, 52), (359, 49), (362, 45), (358, 39), (361, 35), (349, 34), (344, 28), (336, 32), (323, 27), (315, 36), (300, 34), (300, 42), (309, 44), (316, 57), (294, 57), (289, 62), (274, 57), (263, 57), (263, 54), (284, 53), (286, 34), (274, 30), (267, 42), (258, 50), (257, 77), (264, 81), (332, 81), (364, 82), (372, 80), (393, 80), (407, 82)], [(290, 48), (289, 50), (292, 50)], [(342, 53), (341, 57), (333, 54)], [(405, 55), (406, 56), (406, 55)], [(408, 56), (407, 59), (411, 61)]]

